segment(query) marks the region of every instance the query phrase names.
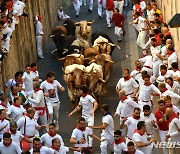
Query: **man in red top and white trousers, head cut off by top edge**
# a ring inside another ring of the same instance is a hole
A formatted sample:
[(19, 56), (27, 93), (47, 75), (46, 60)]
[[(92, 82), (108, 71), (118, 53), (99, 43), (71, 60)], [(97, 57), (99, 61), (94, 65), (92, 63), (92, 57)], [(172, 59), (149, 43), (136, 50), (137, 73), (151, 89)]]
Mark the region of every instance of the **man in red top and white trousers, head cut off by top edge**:
[(111, 28), (110, 22), (113, 16), (113, 10), (114, 10), (114, 1), (106, 0), (106, 22), (107, 22), (108, 28)]

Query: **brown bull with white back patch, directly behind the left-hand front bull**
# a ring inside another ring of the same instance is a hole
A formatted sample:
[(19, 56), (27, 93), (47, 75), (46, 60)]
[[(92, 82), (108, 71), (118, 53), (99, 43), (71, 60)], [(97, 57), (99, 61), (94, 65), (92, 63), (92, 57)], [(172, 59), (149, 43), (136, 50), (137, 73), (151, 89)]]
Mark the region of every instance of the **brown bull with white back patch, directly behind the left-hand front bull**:
[(84, 65), (84, 56), (81, 54), (71, 54), (59, 60), (64, 62), (64, 68), (72, 64)]

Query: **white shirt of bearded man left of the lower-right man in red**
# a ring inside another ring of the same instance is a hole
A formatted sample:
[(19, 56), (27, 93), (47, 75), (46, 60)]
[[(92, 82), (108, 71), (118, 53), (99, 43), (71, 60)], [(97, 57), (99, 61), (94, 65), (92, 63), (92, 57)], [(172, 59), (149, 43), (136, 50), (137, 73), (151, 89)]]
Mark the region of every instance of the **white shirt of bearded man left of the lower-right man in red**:
[(154, 114), (151, 113), (149, 116), (144, 116), (144, 113), (141, 112), (140, 116), (143, 119), (143, 121), (146, 123), (146, 129), (147, 129), (148, 133), (150, 133), (150, 135), (154, 134), (154, 128), (152, 125), (152, 121), (156, 122), (156, 118), (155, 118)]

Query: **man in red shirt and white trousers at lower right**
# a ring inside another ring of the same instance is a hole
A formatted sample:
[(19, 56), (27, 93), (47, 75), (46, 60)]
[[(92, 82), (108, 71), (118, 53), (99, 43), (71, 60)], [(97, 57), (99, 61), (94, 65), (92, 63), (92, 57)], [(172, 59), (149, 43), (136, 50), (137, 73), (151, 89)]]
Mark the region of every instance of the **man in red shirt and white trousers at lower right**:
[[(163, 99), (158, 100), (158, 109), (155, 111), (155, 117), (156, 117), (156, 122), (159, 128), (159, 136), (161, 139), (161, 142), (165, 142), (166, 135), (168, 134), (169, 131), (169, 122), (166, 121), (165, 118), (165, 113), (166, 113), (166, 105), (165, 101)], [(167, 149), (163, 149), (164, 154), (167, 153)]]

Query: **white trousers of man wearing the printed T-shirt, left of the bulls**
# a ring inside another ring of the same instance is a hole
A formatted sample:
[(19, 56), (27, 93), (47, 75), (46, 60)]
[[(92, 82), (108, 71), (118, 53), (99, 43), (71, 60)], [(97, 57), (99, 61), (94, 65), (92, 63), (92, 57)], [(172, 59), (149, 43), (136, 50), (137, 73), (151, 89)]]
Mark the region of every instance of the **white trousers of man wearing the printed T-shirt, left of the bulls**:
[(47, 108), (50, 116), (48, 120), (49, 123), (52, 123), (54, 119), (56, 121), (56, 124), (58, 124), (60, 102), (58, 103), (47, 102)]

